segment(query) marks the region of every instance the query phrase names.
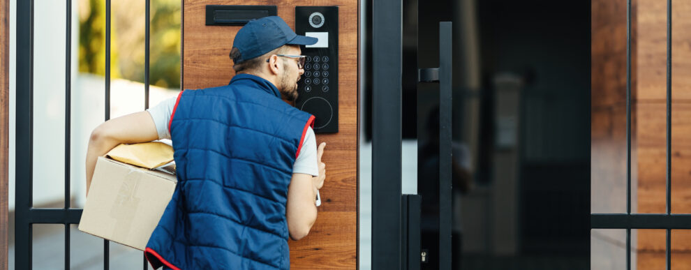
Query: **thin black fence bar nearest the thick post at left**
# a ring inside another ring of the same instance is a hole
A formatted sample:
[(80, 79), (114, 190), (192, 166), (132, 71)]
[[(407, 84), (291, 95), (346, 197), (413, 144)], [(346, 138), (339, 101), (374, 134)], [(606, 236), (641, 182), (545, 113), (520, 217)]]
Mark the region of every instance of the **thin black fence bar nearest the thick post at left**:
[[(70, 123), (72, 110), (72, 0), (67, 0), (65, 35), (65, 209), (70, 208)], [(65, 269), (70, 269), (70, 223), (65, 222)]]

